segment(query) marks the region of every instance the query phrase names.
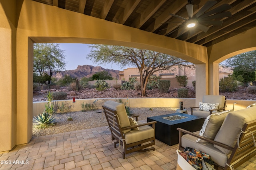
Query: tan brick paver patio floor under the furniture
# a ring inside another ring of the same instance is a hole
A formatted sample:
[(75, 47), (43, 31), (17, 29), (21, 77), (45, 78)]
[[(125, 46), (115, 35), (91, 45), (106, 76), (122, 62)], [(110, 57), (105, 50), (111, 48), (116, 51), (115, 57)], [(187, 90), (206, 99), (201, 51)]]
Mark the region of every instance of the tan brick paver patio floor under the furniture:
[[(175, 170), (178, 145), (156, 140), (155, 151), (122, 158), (107, 127), (34, 137), (28, 145), (0, 153), (0, 170)], [(237, 168), (255, 170), (256, 156)]]

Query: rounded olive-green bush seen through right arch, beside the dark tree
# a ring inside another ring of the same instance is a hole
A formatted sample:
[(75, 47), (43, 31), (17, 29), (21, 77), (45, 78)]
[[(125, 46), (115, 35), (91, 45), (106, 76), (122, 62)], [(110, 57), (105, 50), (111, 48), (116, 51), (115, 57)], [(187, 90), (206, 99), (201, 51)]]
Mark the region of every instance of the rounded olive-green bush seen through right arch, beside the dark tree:
[(238, 88), (238, 81), (233, 80), (232, 76), (220, 79), (220, 92), (234, 92)]

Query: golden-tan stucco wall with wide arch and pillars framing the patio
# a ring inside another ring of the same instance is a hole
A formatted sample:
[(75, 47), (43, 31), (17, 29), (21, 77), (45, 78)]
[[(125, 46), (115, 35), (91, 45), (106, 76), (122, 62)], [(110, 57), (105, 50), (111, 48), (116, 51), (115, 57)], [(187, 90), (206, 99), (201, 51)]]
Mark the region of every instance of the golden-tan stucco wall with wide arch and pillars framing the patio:
[[(251, 34), (246, 39), (250, 41), (242, 45), (242, 48), (238, 48), (240, 51), (256, 47), (252, 39), (255, 32), (255, 29), (248, 30), (232, 37), (241, 39), (241, 36)], [(216, 74), (212, 63), (217, 62), (218, 58), (238, 51), (238, 45), (230, 45), (226, 53), (214, 55), (220, 48), (218, 45), (214, 45), (212, 49), (208, 48), (207, 51), (206, 47), (200, 45), (32, 0), (0, 0), (0, 35), (0, 80), (4, 82), (0, 84), (0, 102), (4, 104), (0, 110), (0, 152), (10, 150), (15, 145), (26, 144), (32, 137), (33, 43), (101, 43), (150, 49), (174, 55), (197, 64), (196, 81), (201, 83), (196, 84), (196, 100), (208, 94), (209, 87), (210, 91), (216, 89), (212, 86)], [(240, 45), (241, 41), (242, 39)]]

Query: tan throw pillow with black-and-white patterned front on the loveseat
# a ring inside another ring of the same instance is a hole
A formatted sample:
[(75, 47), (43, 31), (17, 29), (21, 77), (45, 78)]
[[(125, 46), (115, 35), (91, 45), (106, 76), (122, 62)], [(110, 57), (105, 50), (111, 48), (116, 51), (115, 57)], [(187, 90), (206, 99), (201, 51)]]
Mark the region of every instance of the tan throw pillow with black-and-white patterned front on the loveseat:
[[(199, 135), (213, 140), (216, 134), (218, 133), (224, 119), (226, 118), (230, 111), (232, 110), (225, 110), (219, 113), (208, 115), (204, 120), (204, 124), (202, 126), (202, 129), (200, 130)], [(201, 139), (196, 140), (196, 142), (208, 143)]]

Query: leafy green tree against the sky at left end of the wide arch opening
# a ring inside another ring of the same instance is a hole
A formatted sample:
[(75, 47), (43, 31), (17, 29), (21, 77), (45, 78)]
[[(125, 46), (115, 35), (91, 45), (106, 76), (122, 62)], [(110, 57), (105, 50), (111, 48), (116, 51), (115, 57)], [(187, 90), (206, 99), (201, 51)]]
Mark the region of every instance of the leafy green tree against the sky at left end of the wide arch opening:
[[(35, 43), (34, 44), (34, 72), (42, 75), (52, 74), (54, 71), (64, 70), (64, 51), (55, 43)], [(50, 84), (50, 81), (48, 81)]]

